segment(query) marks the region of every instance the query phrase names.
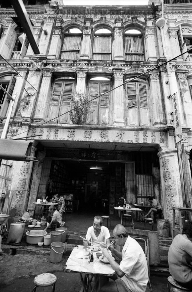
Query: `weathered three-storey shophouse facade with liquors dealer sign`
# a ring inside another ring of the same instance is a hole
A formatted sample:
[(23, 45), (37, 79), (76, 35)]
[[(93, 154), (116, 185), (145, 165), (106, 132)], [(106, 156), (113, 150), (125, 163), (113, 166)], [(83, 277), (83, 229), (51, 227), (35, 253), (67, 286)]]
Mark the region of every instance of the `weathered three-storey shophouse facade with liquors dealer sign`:
[[(154, 195), (172, 222), (172, 206), (192, 206), (192, 53), (167, 61), (191, 47), (192, 1), (165, 0), (163, 14), (158, 0), (24, 4), (40, 54), (1, 4), (0, 84), (15, 96), (7, 139), (30, 137), (38, 161), (1, 160), (1, 177), (11, 178), (0, 178), (4, 210), (17, 221), (60, 192), (74, 195), (68, 211), (89, 204), (112, 214), (119, 197), (133, 205)], [(79, 92), (91, 111), (74, 124)], [(2, 91), (0, 103), (1, 133), (10, 107)]]

